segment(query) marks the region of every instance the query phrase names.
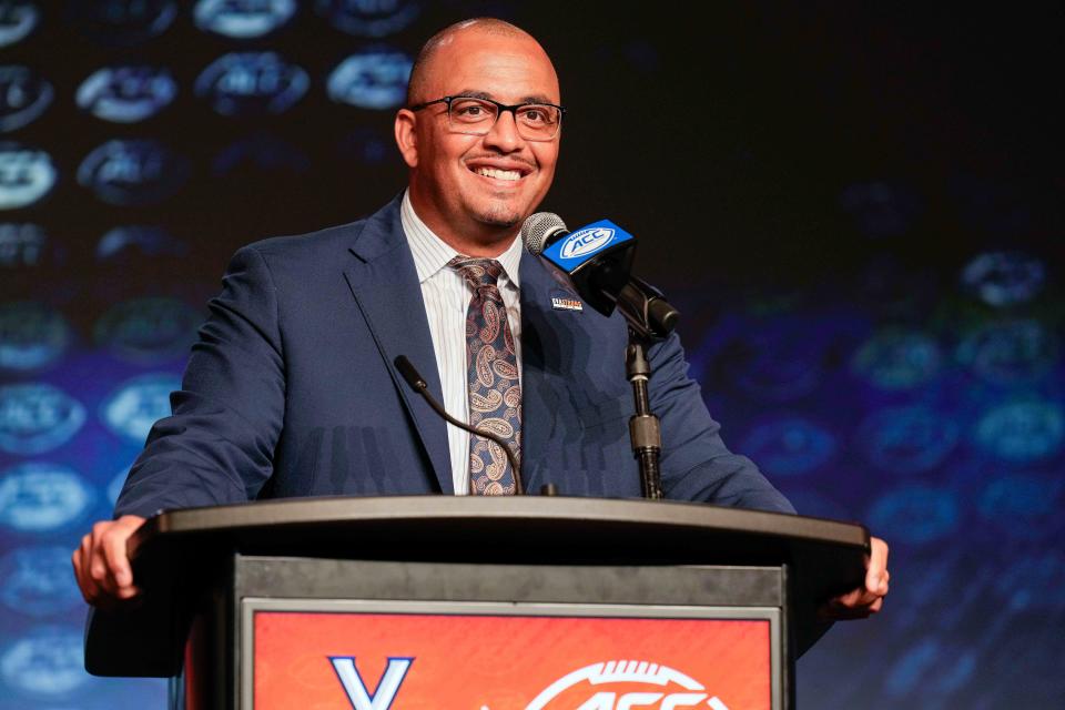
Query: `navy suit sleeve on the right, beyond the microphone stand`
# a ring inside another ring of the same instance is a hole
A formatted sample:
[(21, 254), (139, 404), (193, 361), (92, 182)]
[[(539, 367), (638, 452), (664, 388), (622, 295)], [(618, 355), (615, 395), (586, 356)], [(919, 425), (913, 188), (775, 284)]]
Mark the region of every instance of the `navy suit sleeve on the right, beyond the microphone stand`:
[(676, 333), (653, 345), (651, 410), (662, 423), (662, 488), (667, 498), (722, 506), (794, 513), (794, 508), (746, 456), (721, 440), (721, 426), (702, 400), (699, 384)]

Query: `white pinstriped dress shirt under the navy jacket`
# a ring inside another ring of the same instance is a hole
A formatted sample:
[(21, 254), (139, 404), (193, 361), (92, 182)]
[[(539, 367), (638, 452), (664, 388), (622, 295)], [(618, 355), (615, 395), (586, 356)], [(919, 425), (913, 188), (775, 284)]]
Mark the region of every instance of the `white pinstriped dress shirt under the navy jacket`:
[[(474, 290), (447, 263), (459, 255), (433, 233), (414, 212), (409, 192), (403, 195), (399, 209), (403, 231), (414, 255), (414, 266), (422, 284), (425, 315), (429, 321), (436, 368), (444, 389), (444, 408), (456, 419), (469, 422), (469, 386), (466, 368), (466, 308)], [(507, 322), (514, 335), (514, 349), (518, 362), (518, 381), (521, 378), (521, 298), (518, 266), (521, 263), (521, 240), (515, 235), (514, 243), (496, 257), (503, 266), (498, 288), (507, 307)], [(414, 363), (415, 367), (426, 365)], [(452, 459), (452, 479), (455, 495), (469, 494), (469, 434), (457, 426), (447, 425), (447, 447)]]

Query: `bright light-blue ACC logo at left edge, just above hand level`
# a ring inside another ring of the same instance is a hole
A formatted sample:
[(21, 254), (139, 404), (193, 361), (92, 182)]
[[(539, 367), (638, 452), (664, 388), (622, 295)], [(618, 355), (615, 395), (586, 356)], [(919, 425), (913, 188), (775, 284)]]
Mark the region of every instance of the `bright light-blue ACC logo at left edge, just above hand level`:
[(81, 476), (59, 464), (27, 462), (0, 477), (0, 523), (22, 532), (64, 528), (92, 503), (92, 489)]

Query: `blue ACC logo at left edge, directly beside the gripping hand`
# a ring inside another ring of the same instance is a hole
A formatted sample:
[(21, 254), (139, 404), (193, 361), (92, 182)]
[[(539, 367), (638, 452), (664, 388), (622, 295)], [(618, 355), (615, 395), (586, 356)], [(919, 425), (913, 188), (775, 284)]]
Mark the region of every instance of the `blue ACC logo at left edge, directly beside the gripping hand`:
[(79, 606), (65, 547), (20, 547), (0, 560), (0, 601), (18, 613), (47, 617)]

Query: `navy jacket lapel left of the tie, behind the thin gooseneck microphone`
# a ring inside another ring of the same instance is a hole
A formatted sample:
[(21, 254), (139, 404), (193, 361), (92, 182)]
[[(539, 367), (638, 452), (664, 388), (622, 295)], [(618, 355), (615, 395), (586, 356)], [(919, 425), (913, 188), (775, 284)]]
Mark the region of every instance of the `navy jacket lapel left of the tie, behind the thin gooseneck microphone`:
[(442, 493), (454, 494), (444, 420), (407, 385), (393, 364), (397, 356), (406, 355), (428, 383), (433, 396), (444, 398), (422, 288), (399, 220), (399, 204), (397, 197), (366, 221), (351, 247), (357, 261), (344, 275), (414, 420)]

